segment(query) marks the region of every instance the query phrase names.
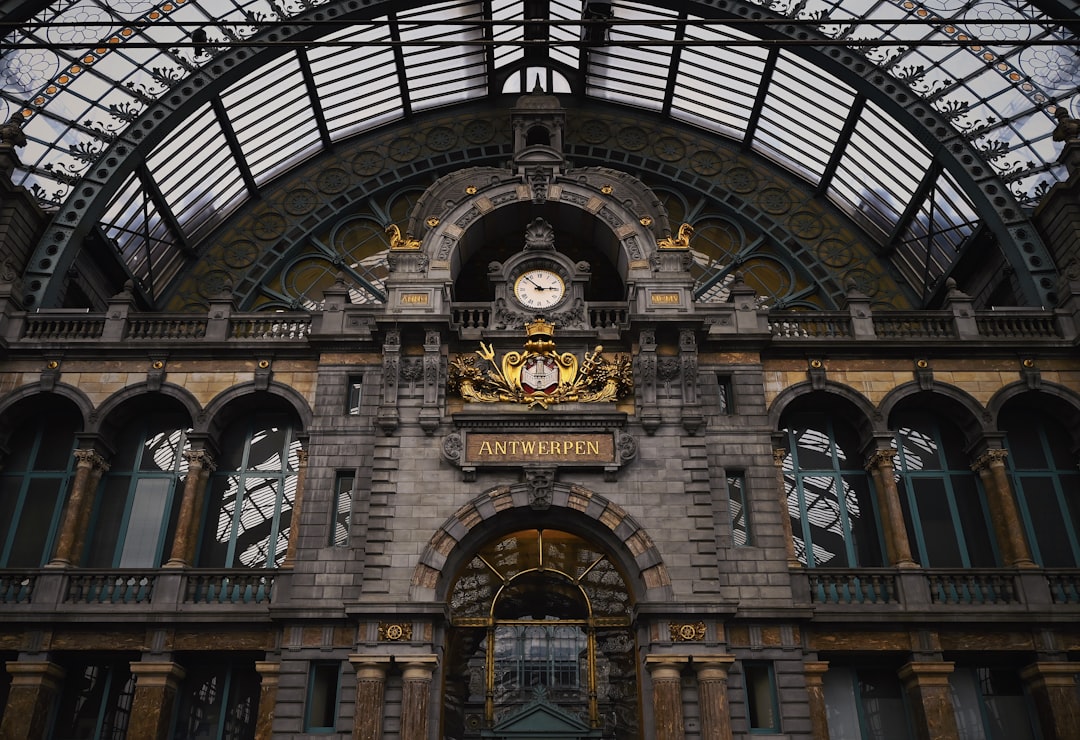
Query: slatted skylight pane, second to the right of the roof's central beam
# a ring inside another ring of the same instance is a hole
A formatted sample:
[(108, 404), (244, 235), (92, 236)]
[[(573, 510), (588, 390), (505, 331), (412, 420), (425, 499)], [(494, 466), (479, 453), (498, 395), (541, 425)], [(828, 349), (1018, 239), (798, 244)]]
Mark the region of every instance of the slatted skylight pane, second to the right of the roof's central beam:
[(716, 45), (683, 49), (672, 90), (672, 116), (743, 138), (768, 53), (757, 46), (725, 46), (725, 41), (750, 38), (731, 28), (689, 26), (686, 38)]

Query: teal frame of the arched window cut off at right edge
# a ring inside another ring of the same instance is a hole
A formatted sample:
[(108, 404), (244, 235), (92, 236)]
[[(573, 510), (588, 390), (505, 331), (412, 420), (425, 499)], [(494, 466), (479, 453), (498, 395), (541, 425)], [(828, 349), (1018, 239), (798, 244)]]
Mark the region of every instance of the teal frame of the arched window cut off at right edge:
[[(1064, 432), (1064, 429), (1062, 431)], [(1013, 446), (1010, 444), (1010, 438), (1014, 433), (1005, 430), (1004, 446), (1009, 450), (1009, 455), (1005, 456), (1005, 467), (1013, 482), (1021, 520), (1024, 523), (1027, 541), (1031, 548), (1031, 557), (1043, 567), (1078, 567), (1080, 566), (1080, 535), (1077, 533), (1077, 528), (1080, 526), (1080, 470), (1077, 470), (1075, 465), (1071, 468), (1061, 467), (1061, 461), (1054, 455), (1050, 433), (1045, 425), (1040, 422), (1031, 423), (1030, 427), (1024, 429), (1024, 435), (1036, 438), (1044, 465), (1042, 467), (1020, 467), (1017, 456), (1013, 454)], [(1053, 489), (1058, 513), (1058, 517), (1053, 524), (1056, 525), (1059, 522), (1063, 526), (1065, 541), (1071, 551), (1071, 563), (1047, 563), (1043, 554), (1043, 548), (1048, 544), (1047, 538), (1040, 538), (1047, 526), (1045, 517), (1035, 516), (1031, 513), (1029, 500), (1034, 481), (1048, 482)], [(1074, 492), (1071, 501), (1068, 492)], [(1036, 526), (1037, 520), (1042, 523), (1042, 527)]]

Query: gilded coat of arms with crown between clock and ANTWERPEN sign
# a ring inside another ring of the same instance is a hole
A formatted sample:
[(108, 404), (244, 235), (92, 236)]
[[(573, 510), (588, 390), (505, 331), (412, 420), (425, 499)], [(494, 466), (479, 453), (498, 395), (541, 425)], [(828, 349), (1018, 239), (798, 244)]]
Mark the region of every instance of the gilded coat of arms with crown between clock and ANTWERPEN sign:
[(450, 391), (469, 402), (508, 401), (546, 408), (569, 401), (618, 401), (633, 390), (630, 358), (608, 361), (597, 345), (579, 362), (571, 352), (555, 350), (555, 326), (550, 322), (537, 319), (525, 329), (525, 351), (507, 352), (501, 362), (484, 342), (475, 353), (455, 358), (449, 366)]

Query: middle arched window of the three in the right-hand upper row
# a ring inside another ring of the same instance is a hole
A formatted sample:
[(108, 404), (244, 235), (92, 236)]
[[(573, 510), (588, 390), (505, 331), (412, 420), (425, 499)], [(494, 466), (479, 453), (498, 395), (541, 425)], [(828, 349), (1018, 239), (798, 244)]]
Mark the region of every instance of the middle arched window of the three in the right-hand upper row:
[(896, 487), (912, 551), (928, 568), (994, 567), (998, 559), (963, 435), (928, 412), (895, 415)]

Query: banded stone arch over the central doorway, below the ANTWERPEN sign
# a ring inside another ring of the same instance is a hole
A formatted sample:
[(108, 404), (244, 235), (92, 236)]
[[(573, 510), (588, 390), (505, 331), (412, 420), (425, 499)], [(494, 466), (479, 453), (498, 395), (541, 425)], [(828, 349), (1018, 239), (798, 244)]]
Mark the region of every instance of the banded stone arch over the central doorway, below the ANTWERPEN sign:
[[(583, 486), (555, 483), (551, 508), (537, 511), (529, 507), (530, 490), (526, 483), (489, 488), (447, 519), (420, 553), (409, 583), (409, 600), (445, 598), (450, 579), (472, 549), (519, 525), (542, 525), (598, 538), (625, 574), (635, 601), (672, 598), (671, 577), (660, 551), (622, 507)], [(514, 513), (525, 515), (517, 517)]]

